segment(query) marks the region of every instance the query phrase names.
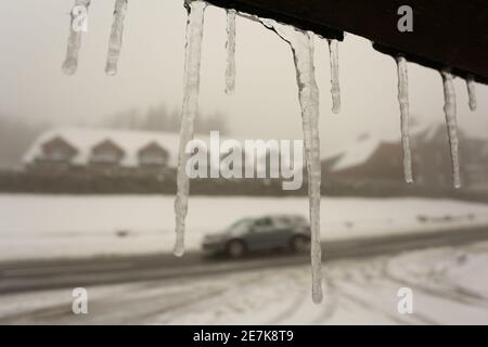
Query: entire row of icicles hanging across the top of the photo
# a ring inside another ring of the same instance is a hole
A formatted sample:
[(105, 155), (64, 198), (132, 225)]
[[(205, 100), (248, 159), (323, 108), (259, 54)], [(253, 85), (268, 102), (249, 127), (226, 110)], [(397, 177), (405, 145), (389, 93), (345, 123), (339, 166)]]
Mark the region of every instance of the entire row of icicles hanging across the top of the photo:
[[(124, 18), (127, 11), (128, 0), (116, 0), (114, 11), (114, 23), (108, 44), (108, 55), (106, 61), (106, 73), (115, 75), (117, 72), (117, 61), (120, 54)], [(200, 66), (202, 54), (202, 39), (204, 28), (204, 13), (207, 4), (202, 0), (185, 0), (188, 10), (187, 42), (184, 59), (184, 92), (181, 112), (180, 147), (178, 164), (178, 191), (175, 201), (176, 213), (176, 243), (174, 254), (182, 256), (184, 253), (184, 222), (188, 215), (190, 179), (185, 174), (185, 164), (189, 154), (185, 153), (185, 144), (193, 139), (194, 124), (198, 108), (200, 92)], [(82, 5), (88, 11), (90, 0), (76, 0), (75, 5)], [(226, 68), (226, 93), (232, 94), (235, 88), (235, 16), (236, 11), (227, 11), (227, 68)], [(298, 100), (301, 107), (301, 121), (306, 150), (306, 165), (308, 171), (308, 195), (309, 213), (311, 226), (311, 270), (312, 270), (312, 299), (314, 303), (322, 300), (322, 260), (320, 243), (320, 139), (319, 139), (319, 88), (314, 77), (313, 65), (313, 40), (314, 34), (304, 31), (290, 25), (277, 23), (272, 20), (259, 18), (257, 16), (239, 13), (247, 18), (260, 22), (267, 28), (273, 30), (284, 41), (286, 41), (293, 52), (297, 86)], [(73, 17), (72, 17), (73, 22)], [(332, 112), (337, 114), (341, 111), (341, 87), (338, 69), (338, 41), (329, 39), (330, 63), (331, 63), (331, 94)], [(81, 43), (81, 33), (70, 29), (66, 60), (63, 70), (66, 74), (74, 74), (78, 65), (78, 52)], [(398, 102), (401, 115), (401, 142), (403, 149), (403, 175), (408, 183), (413, 182), (412, 155), (409, 137), (409, 89), (407, 60), (402, 55), (396, 57), (398, 67)], [(458, 154), (458, 130), (457, 130), (457, 104), (453, 76), (449, 69), (440, 72), (445, 94), (445, 115), (449, 134), (453, 185), (461, 187), (460, 166)], [(476, 110), (475, 82), (473, 78), (466, 79), (467, 92), (470, 97), (470, 108)]]

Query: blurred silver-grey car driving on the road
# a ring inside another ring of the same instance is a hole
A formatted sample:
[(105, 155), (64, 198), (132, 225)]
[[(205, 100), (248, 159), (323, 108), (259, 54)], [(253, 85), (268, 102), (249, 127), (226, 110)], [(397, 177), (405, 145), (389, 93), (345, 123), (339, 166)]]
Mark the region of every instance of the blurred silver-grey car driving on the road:
[(244, 218), (222, 232), (206, 235), (202, 246), (207, 254), (226, 254), (232, 258), (253, 250), (303, 252), (310, 246), (310, 226), (303, 216)]

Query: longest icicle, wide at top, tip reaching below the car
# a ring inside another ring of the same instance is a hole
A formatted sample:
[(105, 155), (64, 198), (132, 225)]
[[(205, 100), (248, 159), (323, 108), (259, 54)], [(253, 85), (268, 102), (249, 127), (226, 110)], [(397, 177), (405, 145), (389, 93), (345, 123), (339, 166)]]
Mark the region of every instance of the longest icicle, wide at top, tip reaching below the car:
[(298, 99), (301, 106), (305, 152), (308, 171), (308, 195), (311, 227), (311, 269), (312, 299), (322, 301), (322, 250), (320, 243), (320, 139), (319, 139), (319, 88), (313, 66), (313, 34), (304, 33), (292, 26), (272, 20), (260, 20), (265, 26), (274, 30), (292, 48)]

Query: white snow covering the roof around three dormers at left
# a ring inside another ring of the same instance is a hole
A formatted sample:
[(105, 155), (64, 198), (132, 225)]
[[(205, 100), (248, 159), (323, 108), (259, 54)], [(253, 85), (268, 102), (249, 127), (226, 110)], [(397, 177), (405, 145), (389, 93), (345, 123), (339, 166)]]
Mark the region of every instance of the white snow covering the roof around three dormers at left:
[[(93, 146), (105, 140), (111, 140), (124, 151), (125, 156), (120, 163), (121, 166), (138, 166), (139, 150), (150, 143), (157, 143), (168, 152), (169, 167), (177, 167), (178, 164), (180, 140), (179, 134), (176, 132), (112, 130), (100, 128), (55, 128), (48, 130), (41, 133), (30, 145), (22, 162), (24, 164), (33, 163), (42, 155), (42, 144), (57, 137), (67, 141), (78, 151), (72, 162), (75, 165), (86, 165), (89, 162)], [(195, 136), (195, 139), (203, 140), (206, 143), (209, 142), (208, 136)]]

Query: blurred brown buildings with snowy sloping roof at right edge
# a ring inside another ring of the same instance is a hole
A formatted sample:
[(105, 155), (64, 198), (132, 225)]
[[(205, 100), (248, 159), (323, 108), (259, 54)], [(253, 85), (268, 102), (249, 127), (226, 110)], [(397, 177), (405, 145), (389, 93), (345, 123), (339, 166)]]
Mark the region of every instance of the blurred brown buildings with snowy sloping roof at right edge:
[[(464, 187), (486, 184), (488, 141), (467, 137), (458, 130), (460, 172)], [(452, 187), (449, 138), (444, 124), (414, 128), (410, 137), (414, 181), (426, 187)], [(403, 180), (403, 151), (397, 138), (361, 136), (342, 153), (322, 160), (324, 179), (351, 182)]]

